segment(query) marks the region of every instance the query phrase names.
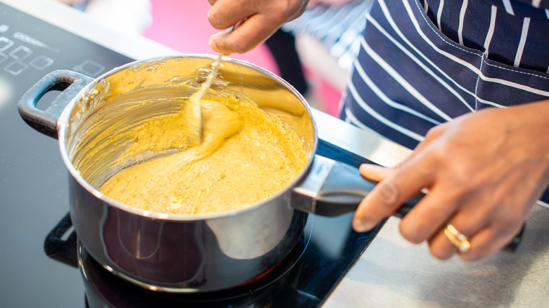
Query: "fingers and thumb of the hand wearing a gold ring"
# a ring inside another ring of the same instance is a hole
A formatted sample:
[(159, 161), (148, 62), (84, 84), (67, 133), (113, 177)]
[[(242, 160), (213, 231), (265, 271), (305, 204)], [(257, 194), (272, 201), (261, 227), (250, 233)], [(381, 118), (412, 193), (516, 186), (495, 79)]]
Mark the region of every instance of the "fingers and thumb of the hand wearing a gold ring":
[[(422, 164), (422, 159), (424, 157), (421, 155), (411, 157), (396, 169), (376, 165), (360, 167), (362, 176), (380, 183), (358, 207), (353, 219), (356, 231), (373, 228), (380, 219), (394, 212), (406, 198), (415, 195), (423, 187), (431, 186), (435, 178), (430, 172), (417, 171), (417, 168), (422, 169), (417, 167)], [(455, 182), (450, 181), (449, 184), (439, 183), (429, 187), (429, 193), (400, 222), (403, 238), (412, 243), (428, 240), (431, 255), (437, 259), (448, 259), (457, 253), (464, 261), (484, 259), (510, 243), (519, 231), (522, 220), (505, 220), (495, 213), (509, 212), (503, 209), (514, 207), (495, 202), (493, 195), (482, 197), (476, 191), (464, 195), (453, 184)], [(479, 200), (483, 201), (483, 206), (479, 206)], [(524, 215), (517, 213), (510, 216)], [(459, 252), (455, 243), (444, 233), (446, 223), (453, 225), (467, 238), (470, 244), (467, 252)]]

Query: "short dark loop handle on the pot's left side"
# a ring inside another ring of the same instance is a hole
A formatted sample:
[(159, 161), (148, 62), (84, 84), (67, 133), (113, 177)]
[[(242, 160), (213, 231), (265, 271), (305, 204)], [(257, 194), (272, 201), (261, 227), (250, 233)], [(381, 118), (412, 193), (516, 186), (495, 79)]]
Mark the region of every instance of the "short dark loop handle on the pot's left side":
[[(80, 90), (94, 80), (77, 72), (70, 70), (55, 70), (42, 77), (27, 93), (19, 103), (19, 114), (30, 127), (37, 131), (57, 139), (57, 120), (65, 106), (75, 98)], [(61, 91), (45, 109), (37, 108), (40, 98), (49, 91)]]

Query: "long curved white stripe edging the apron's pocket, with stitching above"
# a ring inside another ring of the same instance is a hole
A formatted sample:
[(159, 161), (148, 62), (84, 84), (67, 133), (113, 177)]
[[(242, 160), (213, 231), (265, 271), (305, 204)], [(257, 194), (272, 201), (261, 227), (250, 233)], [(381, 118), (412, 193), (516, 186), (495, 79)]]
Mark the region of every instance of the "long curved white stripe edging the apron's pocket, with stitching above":
[[(383, 0), (379, 0), (379, 3), (381, 4), (381, 2), (383, 2)], [(415, 27), (415, 30), (417, 31), (417, 33), (419, 34), (419, 36), (422, 37), (422, 39), (424, 39), (424, 41), (426, 41), (428, 44), (431, 45), (431, 47), (438, 53), (441, 53), (441, 55), (443, 56), (446, 56), (447, 58), (455, 61), (456, 63), (460, 63), (461, 65), (465, 66), (466, 68), (469, 68), (469, 70), (472, 70), (472, 72), (474, 72), (475, 74), (477, 75), (480, 75), (481, 79), (483, 79), (484, 81), (486, 82), (494, 82), (494, 83), (497, 83), (497, 84), (503, 84), (505, 86), (511, 86), (512, 88), (515, 88), (515, 89), (521, 89), (521, 90), (524, 90), (524, 91), (529, 91), (529, 92), (532, 92), (534, 94), (538, 94), (538, 95), (541, 95), (541, 96), (548, 96), (549, 97), (549, 91), (543, 91), (543, 90), (540, 90), (540, 89), (534, 89), (532, 88), (531, 86), (525, 86), (523, 84), (517, 84), (515, 82), (510, 82), (510, 81), (507, 81), (505, 79), (499, 79), (499, 78), (490, 78), (490, 77), (486, 77), (478, 68), (476, 68), (474, 65), (472, 65), (471, 63), (468, 63), (467, 61), (464, 61), (464, 60), (461, 60), (460, 58), (457, 58), (456, 56), (453, 56), (453, 54), (451, 53), (447, 53), (446, 51), (443, 51), (441, 49), (439, 49), (438, 47), (436, 47), (431, 41), (429, 41), (429, 39), (425, 36), (425, 34), (421, 31), (421, 29), (419, 28), (419, 25), (417, 23), (417, 20), (415, 19), (415, 15), (414, 13), (412, 12), (412, 9), (410, 8), (410, 6), (408, 5), (408, 1), (407, 0), (403, 0), (403, 4), (404, 6), (406, 7), (406, 10), (408, 11), (408, 15), (410, 16), (411, 18), (411, 21), (412, 23), (414, 24), (414, 27)], [(438, 34), (437, 34), (438, 35)], [(443, 39), (443, 37), (441, 37), (441, 39)], [(450, 44), (448, 41), (446, 41), (446, 39), (443, 39), (443, 41), (446, 42), (446, 44)], [(451, 44), (450, 44), (451, 45)], [(465, 51), (467, 53), (472, 53), (471, 51), (467, 51), (465, 49), (462, 49), (462, 51)], [(475, 53), (472, 53), (472, 54), (475, 54)], [(481, 57), (481, 55), (477, 54), (477, 56)], [(486, 65), (491, 65), (490, 63), (486, 63)], [(492, 65), (493, 66), (493, 65)], [(500, 68), (500, 67), (498, 67)], [(502, 69), (505, 69), (505, 70), (509, 70), (509, 69), (506, 69), (506, 68), (502, 68)], [(513, 71), (513, 72), (519, 72), (519, 71)], [(519, 72), (519, 73), (522, 73), (522, 72)], [(528, 75), (531, 75), (531, 76), (534, 76), (534, 77), (540, 77), (540, 78), (546, 78), (546, 77), (541, 77), (539, 75), (535, 75), (535, 74), (530, 74), (530, 73), (524, 73), (524, 74), (528, 74)]]

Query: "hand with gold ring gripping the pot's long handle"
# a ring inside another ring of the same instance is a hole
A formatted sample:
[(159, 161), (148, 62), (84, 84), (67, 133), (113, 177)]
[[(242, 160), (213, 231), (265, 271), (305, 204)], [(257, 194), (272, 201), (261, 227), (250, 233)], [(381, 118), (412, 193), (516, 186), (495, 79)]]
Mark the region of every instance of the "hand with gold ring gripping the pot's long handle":
[(431, 254), (455, 252), (446, 223), (468, 237), (464, 261), (484, 259), (510, 243), (549, 182), (549, 101), (488, 108), (431, 129), (395, 168), (362, 165), (379, 181), (355, 212), (356, 231), (372, 229), (405, 200), (427, 195), (402, 219), (412, 243), (429, 241)]

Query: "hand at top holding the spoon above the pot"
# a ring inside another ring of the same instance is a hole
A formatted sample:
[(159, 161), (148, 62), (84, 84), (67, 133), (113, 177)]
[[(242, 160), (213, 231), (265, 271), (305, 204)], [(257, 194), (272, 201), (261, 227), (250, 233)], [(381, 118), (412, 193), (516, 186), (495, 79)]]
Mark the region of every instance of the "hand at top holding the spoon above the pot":
[(284, 23), (297, 18), (307, 0), (208, 0), (210, 24), (218, 30), (237, 25), (232, 32), (210, 37), (210, 48), (224, 54), (251, 51)]

